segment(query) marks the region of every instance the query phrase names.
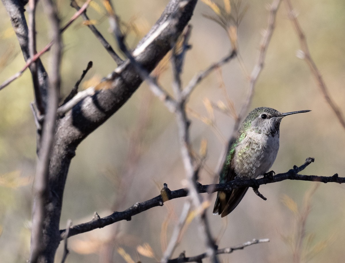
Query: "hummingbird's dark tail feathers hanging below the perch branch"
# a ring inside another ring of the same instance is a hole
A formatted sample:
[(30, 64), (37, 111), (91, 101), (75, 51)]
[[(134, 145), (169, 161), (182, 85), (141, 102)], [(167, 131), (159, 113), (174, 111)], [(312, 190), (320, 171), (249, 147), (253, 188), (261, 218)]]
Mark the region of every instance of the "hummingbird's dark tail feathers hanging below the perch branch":
[(231, 213), (232, 210), (239, 204), (244, 195), (246, 194), (248, 187), (237, 188), (232, 192), (219, 191), (215, 206), (213, 208), (213, 214), (221, 214), (224, 217)]

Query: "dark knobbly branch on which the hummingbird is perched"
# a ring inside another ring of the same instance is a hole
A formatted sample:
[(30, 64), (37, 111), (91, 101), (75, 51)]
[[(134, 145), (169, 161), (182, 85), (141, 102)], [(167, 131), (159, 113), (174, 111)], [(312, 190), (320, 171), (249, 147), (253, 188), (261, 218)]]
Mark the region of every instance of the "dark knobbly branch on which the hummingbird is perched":
[[(302, 180), (302, 181), (316, 181), (316, 182), (337, 182), (339, 184), (345, 183), (345, 177), (338, 177), (337, 174), (333, 176), (315, 176), (315, 175), (300, 175), (298, 172), (305, 169), (310, 163), (314, 161), (314, 158), (307, 158), (306, 162), (300, 166), (294, 166), (293, 169), (285, 173), (279, 173), (273, 177), (263, 177), (260, 179), (248, 179), (243, 180), (241, 178), (236, 178), (233, 181), (230, 181), (226, 184), (212, 184), (212, 185), (201, 185), (196, 184), (197, 190), (199, 193), (212, 193), (217, 191), (231, 191), (231, 189), (240, 188), (240, 187), (252, 187), (257, 188), (260, 185), (270, 184), (273, 182), (280, 182), (284, 180)], [(141, 212), (144, 212), (152, 207), (162, 206), (165, 201), (185, 197), (188, 195), (187, 188), (178, 189), (175, 191), (170, 191), (167, 187), (164, 189), (164, 197), (162, 195), (156, 196), (150, 200), (147, 200), (142, 203), (136, 203), (130, 208), (122, 212), (114, 212), (113, 214), (98, 218), (96, 220), (91, 220), (87, 223), (82, 223), (79, 225), (72, 226), (70, 228), (69, 236), (75, 236), (81, 233), (91, 231), (96, 228), (102, 228), (107, 225), (113, 224), (121, 220), (131, 220), (131, 217), (137, 215)], [(60, 230), (60, 240), (65, 238), (66, 229)]]

